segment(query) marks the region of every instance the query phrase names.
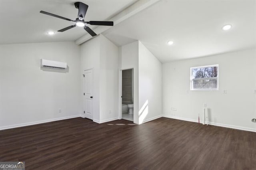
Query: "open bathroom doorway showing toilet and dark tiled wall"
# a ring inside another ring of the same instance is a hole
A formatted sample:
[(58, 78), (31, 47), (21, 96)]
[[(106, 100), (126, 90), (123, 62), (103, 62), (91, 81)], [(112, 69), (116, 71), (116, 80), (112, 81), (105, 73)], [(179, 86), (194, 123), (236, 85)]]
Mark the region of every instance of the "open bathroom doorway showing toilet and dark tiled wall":
[(133, 121), (133, 69), (121, 70), (121, 119)]

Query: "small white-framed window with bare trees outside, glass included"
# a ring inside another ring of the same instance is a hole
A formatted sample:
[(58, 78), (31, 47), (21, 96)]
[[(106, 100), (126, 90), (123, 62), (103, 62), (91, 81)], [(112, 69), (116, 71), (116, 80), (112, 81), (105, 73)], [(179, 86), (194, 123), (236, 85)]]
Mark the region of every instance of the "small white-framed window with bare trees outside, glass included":
[(219, 65), (190, 68), (190, 90), (218, 90)]

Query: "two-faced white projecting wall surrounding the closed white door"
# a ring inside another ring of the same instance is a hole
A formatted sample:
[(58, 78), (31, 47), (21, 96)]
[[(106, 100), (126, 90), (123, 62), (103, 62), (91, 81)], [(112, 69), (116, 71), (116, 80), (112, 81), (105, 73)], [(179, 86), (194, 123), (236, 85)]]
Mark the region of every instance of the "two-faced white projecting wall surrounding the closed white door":
[[(118, 119), (118, 47), (101, 34), (83, 43), (81, 75), (88, 68), (93, 68), (94, 74), (93, 120), (103, 123)], [(83, 77), (81, 82), (83, 83)], [(83, 87), (80, 94), (83, 101)], [(84, 113), (82, 116), (84, 117)]]

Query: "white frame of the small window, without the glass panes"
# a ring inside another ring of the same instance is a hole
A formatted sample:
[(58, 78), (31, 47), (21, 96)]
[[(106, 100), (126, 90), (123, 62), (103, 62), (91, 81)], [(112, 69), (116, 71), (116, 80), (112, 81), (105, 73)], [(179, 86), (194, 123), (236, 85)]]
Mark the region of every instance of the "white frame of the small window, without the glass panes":
[[(196, 78), (196, 80), (203, 80), (203, 79), (217, 79), (217, 88), (214, 89), (193, 89), (193, 81), (195, 79), (193, 79), (193, 74), (192, 74), (192, 69), (197, 69), (197, 68), (205, 68), (205, 67), (218, 67), (218, 75), (217, 77), (208, 77), (208, 78)], [(190, 67), (190, 90), (191, 91), (216, 91), (219, 90), (219, 65), (218, 64), (214, 64), (214, 65), (204, 65), (204, 66), (198, 66), (198, 67)]]

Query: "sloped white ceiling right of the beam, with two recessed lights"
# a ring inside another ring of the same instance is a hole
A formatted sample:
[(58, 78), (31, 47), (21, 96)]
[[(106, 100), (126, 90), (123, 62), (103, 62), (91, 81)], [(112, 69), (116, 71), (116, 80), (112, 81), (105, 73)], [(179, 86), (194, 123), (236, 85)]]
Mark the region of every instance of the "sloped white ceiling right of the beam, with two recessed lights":
[(104, 35), (117, 45), (140, 40), (162, 62), (252, 48), (256, 1), (160, 0)]

